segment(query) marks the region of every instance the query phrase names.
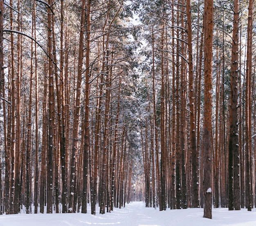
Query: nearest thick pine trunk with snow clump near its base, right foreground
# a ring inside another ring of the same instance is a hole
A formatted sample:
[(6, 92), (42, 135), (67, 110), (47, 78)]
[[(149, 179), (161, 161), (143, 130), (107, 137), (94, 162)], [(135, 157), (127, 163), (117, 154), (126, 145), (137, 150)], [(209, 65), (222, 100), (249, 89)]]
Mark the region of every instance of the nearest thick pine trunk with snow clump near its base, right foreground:
[(204, 129), (203, 129), (203, 189), (204, 217), (212, 218), (212, 54), (213, 54), (213, 0), (204, 1)]

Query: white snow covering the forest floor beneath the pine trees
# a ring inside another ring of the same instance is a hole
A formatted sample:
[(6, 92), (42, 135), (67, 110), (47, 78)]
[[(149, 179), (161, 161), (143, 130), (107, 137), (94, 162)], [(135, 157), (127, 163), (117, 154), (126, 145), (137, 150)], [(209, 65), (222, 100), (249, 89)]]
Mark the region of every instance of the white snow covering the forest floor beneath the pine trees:
[(81, 213), (18, 214), (0, 216), (0, 226), (256, 226), (256, 209), (213, 209), (213, 219), (203, 218), (203, 209), (159, 211), (143, 202), (126, 204), (111, 213), (94, 216)]

